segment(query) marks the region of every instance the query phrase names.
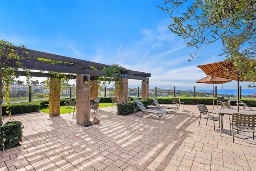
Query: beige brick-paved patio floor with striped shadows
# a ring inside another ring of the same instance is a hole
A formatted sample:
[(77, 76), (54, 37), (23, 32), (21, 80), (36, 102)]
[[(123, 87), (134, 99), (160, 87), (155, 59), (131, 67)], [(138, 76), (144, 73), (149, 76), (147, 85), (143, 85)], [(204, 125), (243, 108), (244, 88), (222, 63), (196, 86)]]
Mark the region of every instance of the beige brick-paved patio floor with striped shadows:
[(13, 115), (24, 137), (21, 146), (0, 151), (0, 171), (256, 171), (256, 139), (235, 137), (233, 143), (214, 132), (212, 121), (198, 127), (196, 105), (182, 109), (156, 120), (104, 107), (91, 114), (100, 124), (90, 127), (68, 113)]

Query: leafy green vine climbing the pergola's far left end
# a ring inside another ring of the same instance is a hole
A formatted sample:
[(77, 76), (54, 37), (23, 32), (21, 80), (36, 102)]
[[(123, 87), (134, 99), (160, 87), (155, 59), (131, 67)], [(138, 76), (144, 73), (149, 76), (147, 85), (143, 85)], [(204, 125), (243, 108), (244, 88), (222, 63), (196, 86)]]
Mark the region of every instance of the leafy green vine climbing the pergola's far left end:
[[(25, 48), (23, 45), (18, 46), (18, 48)], [(19, 62), (19, 60), (22, 59), (22, 55), (18, 54), (14, 50), (14, 45), (12, 45), (10, 42), (7, 42), (5, 40), (0, 40), (0, 125), (2, 125), (2, 103), (4, 100), (4, 97), (6, 99), (6, 103), (8, 106), (10, 106), (10, 84), (14, 82), (14, 79), (17, 77), (15, 74), (15, 71), (18, 70), (18, 68), (23, 68), (24, 71), (26, 71), (26, 82), (29, 85), (30, 84), (30, 73), (29, 70), (22, 67), (22, 63)], [(17, 81), (18, 84), (23, 84), (22, 81)], [(2, 91), (4, 87), (4, 93)], [(7, 107), (6, 113), (11, 117), (11, 112), (8, 110), (9, 107)]]

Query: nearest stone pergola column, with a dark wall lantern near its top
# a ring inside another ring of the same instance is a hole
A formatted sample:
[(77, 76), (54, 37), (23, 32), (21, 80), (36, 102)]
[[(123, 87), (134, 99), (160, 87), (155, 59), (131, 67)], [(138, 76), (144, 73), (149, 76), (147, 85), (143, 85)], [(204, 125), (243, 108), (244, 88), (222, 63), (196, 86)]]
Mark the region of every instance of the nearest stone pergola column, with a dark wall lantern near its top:
[(84, 84), (84, 76), (90, 78), (90, 75), (76, 75), (76, 123), (86, 125), (90, 121), (90, 81)]

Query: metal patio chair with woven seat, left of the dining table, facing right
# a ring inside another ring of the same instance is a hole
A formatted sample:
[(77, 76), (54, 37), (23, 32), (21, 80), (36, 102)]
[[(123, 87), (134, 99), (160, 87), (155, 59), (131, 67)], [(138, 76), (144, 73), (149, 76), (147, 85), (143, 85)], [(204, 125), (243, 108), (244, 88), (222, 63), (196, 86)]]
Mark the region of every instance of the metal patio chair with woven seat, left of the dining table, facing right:
[[(220, 116), (220, 114), (208, 111), (208, 109), (207, 109), (205, 104), (197, 105), (197, 107), (198, 107), (199, 112), (200, 112), (200, 118), (199, 118), (198, 127), (200, 125), (201, 119), (207, 119), (206, 125), (207, 125), (208, 119), (210, 119), (210, 120), (213, 120), (213, 126), (214, 126), (214, 131), (215, 131), (215, 123), (214, 122), (215, 121), (219, 121), (220, 122), (220, 117), (214, 117), (213, 115), (209, 115), (209, 113), (212, 113), (212, 114), (215, 114), (215, 115), (219, 115), (219, 116)], [(222, 123), (222, 127), (223, 127), (223, 123)]]

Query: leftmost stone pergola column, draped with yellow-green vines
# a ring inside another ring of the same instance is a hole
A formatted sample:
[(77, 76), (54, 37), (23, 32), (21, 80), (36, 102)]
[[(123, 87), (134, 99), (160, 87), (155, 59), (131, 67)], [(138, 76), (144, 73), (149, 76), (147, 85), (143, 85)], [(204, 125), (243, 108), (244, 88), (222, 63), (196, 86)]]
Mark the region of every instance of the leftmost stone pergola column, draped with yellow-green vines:
[(60, 115), (60, 78), (50, 78), (49, 116)]

